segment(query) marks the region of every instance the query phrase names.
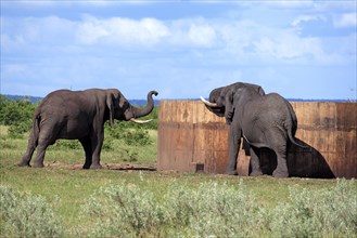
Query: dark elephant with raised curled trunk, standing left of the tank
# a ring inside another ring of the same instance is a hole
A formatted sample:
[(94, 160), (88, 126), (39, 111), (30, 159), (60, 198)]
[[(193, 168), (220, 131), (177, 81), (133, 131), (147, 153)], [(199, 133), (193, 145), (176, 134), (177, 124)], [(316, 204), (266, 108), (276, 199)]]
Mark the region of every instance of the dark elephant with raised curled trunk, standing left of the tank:
[(34, 168), (42, 168), (46, 149), (59, 138), (78, 140), (84, 147), (84, 169), (100, 169), (100, 154), (104, 140), (104, 122), (113, 125), (114, 119), (145, 123), (138, 120), (154, 108), (153, 95), (148, 93), (148, 104), (139, 108), (130, 105), (117, 89), (88, 89), (84, 91), (58, 90), (48, 94), (34, 114), (27, 150), (20, 167), (30, 167), (37, 147)]

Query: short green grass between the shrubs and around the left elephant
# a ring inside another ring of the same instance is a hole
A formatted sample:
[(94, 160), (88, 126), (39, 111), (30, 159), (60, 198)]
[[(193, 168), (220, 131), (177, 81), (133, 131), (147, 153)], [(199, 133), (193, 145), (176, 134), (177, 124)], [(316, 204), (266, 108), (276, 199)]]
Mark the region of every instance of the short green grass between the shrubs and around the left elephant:
[[(135, 150), (137, 158), (135, 163), (138, 164), (155, 164), (156, 158), (156, 131), (150, 131), (150, 136), (153, 140), (151, 145), (143, 147), (127, 146), (120, 143), (119, 140), (113, 140), (112, 149), (104, 150), (102, 153), (102, 163), (127, 163), (127, 153), (123, 151)], [(273, 178), (270, 176), (264, 177), (240, 177), (240, 176), (226, 176), (226, 175), (214, 175), (214, 174), (191, 174), (191, 173), (161, 173), (153, 171), (123, 171), (123, 170), (81, 170), (72, 169), (71, 164), (82, 164), (84, 151), (81, 148), (77, 149), (63, 149), (61, 147), (50, 148), (47, 153), (44, 163), (51, 164), (54, 161), (67, 163), (69, 167), (46, 167), (44, 169), (33, 169), (33, 168), (18, 168), (15, 166), (22, 155), (25, 153), (27, 145), (27, 136), (23, 138), (9, 138), (7, 135), (7, 128), (0, 127), (0, 174), (1, 185), (9, 186), (17, 190), (21, 195), (41, 196), (46, 199), (49, 206), (53, 209), (53, 213), (56, 214), (60, 223), (64, 227), (64, 237), (78, 237), (89, 236), (91, 234), (91, 227), (94, 224), (90, 213), (84, 212), (84, 207), (88, 204), (89, 198), (98, 196), (99, 189), (109, 189), (115, 186), (128, 186), (128, 188), (135, 186), (138, 188), (138, 193), (145, 194), (151, 193), (154, 200), (158, 204), (165, 206), (167, 202), (167, 196), (169, 193), (178, 187), (189, 193), (186, 195), (187, 199), (197, 199), (193, 193), (195, 190), (203, 189), (202, 186), (206, 183), (211, 186), (212, 184), (218, 184), (220, 186), (228, 186), (226, 189), (239, 189), (240, 183), (244, 185), (244, 193), (246, 196), (253, 196), (255, 203), (258, 207), (270, 209), (273, 211), (277, 207), (281, 206), (289, 209), (286, 206), (293, 203), (291, 197), (292, 189), (299, 190), (306, 189), (306, 194), (324, 190), (333, 190), (337, 184), (336, 180), (309, 180), (309, 178)], [(211, 184), (209, 184), (211, 183)], [(352, 180), (348, 182), (352, 186), (354, 195), (357, 194), (357, 182)], [(206, 189), (209, 189), (206, 187)], [(145, 193), (144, 193), (145, 191)], [(219, 191), (219, 190), (218, 190)], [(217, 193), (218, 193), (217, 191)], [(219, 191), (222, 193), (222, 191)], [(191, 196), (192, 194), (192, 196)], [(201, 191), (204, 194), (204, 191)], [(199, 195), (196, 195), (199, 196)], [(211, 200), (211, 195), (205, 195), (207, 200)], [(315, 198), (315, 197), (314, 197)], [(98, 198), (99, 199), (99, 198)], [(112, 201), (112, 197), (102, 198), (105, 201)], [(315, 199), (318, 199), (317, 197)], [(103, 200), (103, 201), (104, 201)], [(139, 199), (140, 200), (140, 199)], [(304, 200), (302, 198), (302, 200)], [(207, 201), (207, 202), (208, 202)], [(334, 200), (332, 200), (334, 203)], [(344, 201), (344, 200), (343, 200)], [(149, 201), (148, 201), (149, 202)], [(202, 200), (203, 202), (203, 200)], [(204, 202), (206, 202), (204, 200)], [(200, 202), (199, 202), (200, 203)], [(248, 203), (248, 202), (247, 202)], [(156, 204), (156, 203), (155, 203)], [(211, 203), (207, 203), (212, 206)], [(101, 204), (100, 204), (101, 206)], [(103, 203), (104, 206), (104, 203)], [(285, 206), (285, 207), (284, 207)], [(357, 209), (356, 204), (347, 204)], [(102, 209), (104, 209), (103, 207)], [(127, 207), (126, 207), (127, 208)], [(196, 209), (196, 208), (192, 208)], [(270, 211), (269, 210), (269, 211)], [(196, 211), (197, 215), (213, 216), (209, 213), (201, 210)], [(356, 211), (353, 215), (356, 217)], [(110, 214), (107, 214), (110, 216)], [(100, 217), (100, 216), (99, 216)], [(105, 216), (106, 217), (106, 216)], [(0, 216), (1, 220), (1, 216)], [(114, 219), (115, 220), (115, 219)], [(113, 220), (113, 221), (114, 221)], [(84, 222), (92, 221), (92, 222)], [(122, 220), (120, 220), (122, 221)], [(184, 228), (182, 236), (194, 236), (195, 232), (191, 227), (192, 224), (188, 224), (188, 229)], [(197, 222), (197, 221), (195, 221)], [(9, 234), (2, 234), (3, 219), (0, 221), (0, 236), (10, 237)], [(280, 224), (280, 223), (279, 223)], [(276, 227), (279, 227), (277, 222)], [(356, 221), (357, 227), (357, 221)], [(203, 224), (201, 224), (203, 225)], [(281, 225), (281, 224), (280, 224)], [(191, 227), (191, 229), (190, 229)], [(197, 226), (199, 227), (199, 226)], [(201, 227), (201, 226), (200, 226)], [(139, 235), (175, 235), (178, 230), (183, 230), (182, 227), (175, 227), (171, 223), (164, 221), (162, 228), (165, 233), (155, 230), (139, 232)], [(203, 226), (201, 228), (204, 228)], [(352, 230), (357, 233), (357, 230)], [(272, 230), (257, 232), (255, 236), (266, 235), (268, 237), (275, 237), (276, 234)], [(123, 234), (122, 234), (123, 235)], [(138, 235), (138, 234), (136, 234)], [(254, 236), (253, 236), (254, 237)], [(315, 236), (321, 237), (321, 236)], [(346, 237), (342, 234), (341, 237)], [(356, 236), (355, 236), (356, 237)]]

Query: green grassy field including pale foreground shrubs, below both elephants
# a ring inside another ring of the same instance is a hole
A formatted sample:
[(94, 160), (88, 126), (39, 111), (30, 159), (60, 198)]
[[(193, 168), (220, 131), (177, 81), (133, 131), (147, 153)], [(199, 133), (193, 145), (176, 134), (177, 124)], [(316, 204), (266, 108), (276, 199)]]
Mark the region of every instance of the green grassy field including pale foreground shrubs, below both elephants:
[[(14, 224), (20, 222), (11, 219), (11, 212), (8, 216), (3, 212), (0, 237), (357, 236), (354, 180), (240, 177), (115, 168), (81, 170), (84, 151), (78, 145), (72, 146), (74, 149), (52, 146), (46, 155), (44, 169), (18, 168), (15, 164), (25, 153), (27, 135), (10, 138), (7, 129), (0, 127), (0, 201), (7, 201), (7, 196), (17, 196), (18, 202), (28, 197), (43, 198), (41, 206), (44, 203), (53, 212), (61, 232), (18, 232)], [(152, 143), (145, 146), (123, 145), (120, 140), (111, 138), (110, 149), (102, 153), (102, 164), (154, 167), (157, 132), (150, 131), (149, 135)], [(319, 204), (326, 212), (315, 211)], [(24, 209), (27, 207), (30, 206)], [(230, 214), (231, 211), (234, 212)], [(221, 230), (222, 227), (228, 228)]]

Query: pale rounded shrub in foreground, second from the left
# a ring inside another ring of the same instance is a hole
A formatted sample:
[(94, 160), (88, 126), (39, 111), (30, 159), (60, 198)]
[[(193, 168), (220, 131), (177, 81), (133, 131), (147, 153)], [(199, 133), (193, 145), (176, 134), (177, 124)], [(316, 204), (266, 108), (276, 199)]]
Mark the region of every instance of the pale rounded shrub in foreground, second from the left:
[(97, 220), (94, 237), (153, 235), (163, 223), (162, 209), (153, 194), (133, 184), (101, 188), (84, 210)]

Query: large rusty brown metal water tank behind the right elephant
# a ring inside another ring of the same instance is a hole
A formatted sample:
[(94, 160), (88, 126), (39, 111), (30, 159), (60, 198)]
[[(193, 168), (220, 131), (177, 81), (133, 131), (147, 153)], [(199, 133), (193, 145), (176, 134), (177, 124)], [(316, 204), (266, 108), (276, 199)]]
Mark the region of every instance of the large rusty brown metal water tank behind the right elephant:
[[(357, 104), (291, 103), (298, 120), (296, 137), (307, 148), (292, 145), (288, 167), (293, 176), (357, 177)], [(158, 170), (225, 173), (228, 129), (225, 119), (201, 102), (162, 101), (158, 114)], [(240, 150), (238, 172), (248, 174), (248, 151)], [(262, 149), (262, 168), (268, 174), (275, 154)]]

